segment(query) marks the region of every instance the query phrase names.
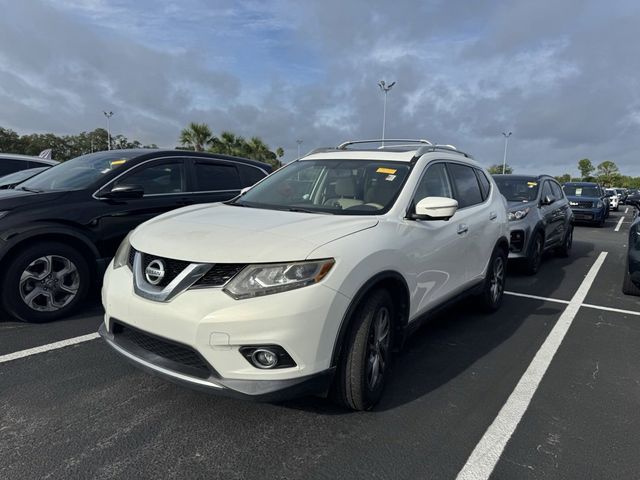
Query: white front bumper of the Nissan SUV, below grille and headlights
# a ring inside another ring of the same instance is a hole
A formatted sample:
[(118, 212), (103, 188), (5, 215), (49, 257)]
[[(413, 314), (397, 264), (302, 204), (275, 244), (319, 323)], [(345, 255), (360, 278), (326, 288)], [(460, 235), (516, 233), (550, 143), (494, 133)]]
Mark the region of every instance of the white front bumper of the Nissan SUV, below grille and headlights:
[[(192, 388), (223, 395), (275, 400), (323, 393), (333, 370), (331, 357), (349, 299), (322, 285), (234, 300), (220, 288), (186, 290), (169, 302), (134, 293), (129, 268), (107, 269), (102, 290), (101, 335), (141, 368)], [(167, 363), (114, 333), (114, 325), (193, 350), (211, 369), (203, 377)], [(278, 345), (295, 366), (259, 369), (241, 347)]]

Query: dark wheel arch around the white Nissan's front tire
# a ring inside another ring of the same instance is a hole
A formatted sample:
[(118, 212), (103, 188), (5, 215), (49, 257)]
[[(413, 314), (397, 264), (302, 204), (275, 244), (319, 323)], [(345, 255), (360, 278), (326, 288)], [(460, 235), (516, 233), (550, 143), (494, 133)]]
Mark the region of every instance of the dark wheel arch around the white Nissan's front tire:
[(354, 315), (358, 310), (358, 307), (362, 304), (362, 301), (367, 297), (367, 295), (378, 288), (384, 288), (390, 292), (391, 297), (394, 301), (394, 304), (398, 308), (396, 313), (397, 318), (394, 321), (394, 327), (396, 330), (394, 347), (400, 345), (402, 341), (402, 335), (398, 335), (398, 333), (402, 333), (406, 328), (409, 321), (409, 306), (410, 306), (410, 297), (409, 297), (409, 286), (407, 285), (404, 277), (393, 270), (387, 270), (384, 272), (380, 272), (373, 277), (371, 277), (367, 282), (364, 283), (351, 299), (349, 303), (349, 307), (345, 312), (342, 321), (340, 322), (340, 328), (338, 329), (338, 335), (336, 337), (333, 353), (331, 355), (331, 367), (335, 367), (338, 365), (339, 360), (343, 354), (343, 346), (348, 338), (348, 334), (351, 331), (353, 326)]

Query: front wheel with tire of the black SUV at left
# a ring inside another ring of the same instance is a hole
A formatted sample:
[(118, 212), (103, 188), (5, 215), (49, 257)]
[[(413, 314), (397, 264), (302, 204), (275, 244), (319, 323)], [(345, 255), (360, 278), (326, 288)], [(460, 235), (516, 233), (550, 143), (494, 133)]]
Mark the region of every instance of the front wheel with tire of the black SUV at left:
[(58, 242), (26, 247), (11, 260), (0, 294), (5, 310), (31, 323), (58, 320), (73, 313), (89, 290), (86, 259)]

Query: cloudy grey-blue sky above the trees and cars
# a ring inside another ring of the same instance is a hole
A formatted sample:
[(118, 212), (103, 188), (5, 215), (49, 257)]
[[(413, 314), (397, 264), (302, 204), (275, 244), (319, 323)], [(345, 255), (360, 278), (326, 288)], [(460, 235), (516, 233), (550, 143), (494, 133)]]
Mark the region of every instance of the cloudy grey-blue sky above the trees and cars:
[(0, 0), (0, 126), (176, 145), (189, 121), (286, 160), (428, 138), (519, 173), (640, 175), (640, 2)]

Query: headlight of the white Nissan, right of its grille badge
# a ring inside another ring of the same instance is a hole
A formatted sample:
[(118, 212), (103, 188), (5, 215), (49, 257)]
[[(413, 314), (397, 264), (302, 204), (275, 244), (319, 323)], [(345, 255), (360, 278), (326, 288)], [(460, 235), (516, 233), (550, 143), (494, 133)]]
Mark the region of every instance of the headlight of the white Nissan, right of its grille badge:
[(249, 265), (224, 289), (240, 300), (286, 292), (313, 285), (322, 280), (335, 264), (333, 258), (309, 262)]

